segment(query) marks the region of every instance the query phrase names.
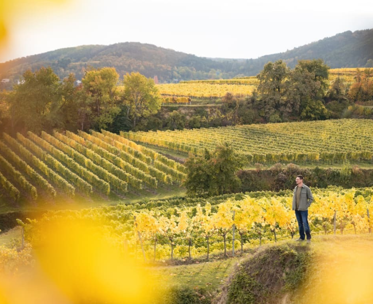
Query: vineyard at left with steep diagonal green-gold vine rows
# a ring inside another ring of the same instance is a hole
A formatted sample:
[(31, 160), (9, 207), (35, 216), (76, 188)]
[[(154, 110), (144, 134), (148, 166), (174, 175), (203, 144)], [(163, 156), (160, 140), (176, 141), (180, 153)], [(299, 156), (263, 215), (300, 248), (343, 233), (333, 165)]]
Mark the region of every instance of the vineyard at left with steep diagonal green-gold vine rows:
[(181, 184), (185, 167), (173, 160), (103, 131), (27, 137), (4, 133), (0, 140), (0, 191), (11, 201), (57, 194), (125, 195), (159, 185)]

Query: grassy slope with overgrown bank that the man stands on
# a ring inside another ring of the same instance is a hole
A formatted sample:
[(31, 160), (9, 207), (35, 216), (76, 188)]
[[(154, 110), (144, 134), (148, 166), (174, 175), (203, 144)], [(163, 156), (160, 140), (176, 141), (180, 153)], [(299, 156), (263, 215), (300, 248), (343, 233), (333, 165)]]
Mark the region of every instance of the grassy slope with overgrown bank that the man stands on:
[(159, 303), (373, 303), (373, 235), (283, 241), (254, 253), (151, 268)]

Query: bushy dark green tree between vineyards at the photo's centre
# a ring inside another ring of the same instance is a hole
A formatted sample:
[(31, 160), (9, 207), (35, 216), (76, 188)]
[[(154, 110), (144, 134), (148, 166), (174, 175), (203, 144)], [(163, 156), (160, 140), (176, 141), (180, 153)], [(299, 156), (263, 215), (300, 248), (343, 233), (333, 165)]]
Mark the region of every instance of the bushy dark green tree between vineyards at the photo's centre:
[(241, 181), (236, 172), (244, 161), (227, 143), (217, 146), (203, 156), (191, 156), (186, 160), (185, 187), (189, 195), (220, 195), (238, 191)]

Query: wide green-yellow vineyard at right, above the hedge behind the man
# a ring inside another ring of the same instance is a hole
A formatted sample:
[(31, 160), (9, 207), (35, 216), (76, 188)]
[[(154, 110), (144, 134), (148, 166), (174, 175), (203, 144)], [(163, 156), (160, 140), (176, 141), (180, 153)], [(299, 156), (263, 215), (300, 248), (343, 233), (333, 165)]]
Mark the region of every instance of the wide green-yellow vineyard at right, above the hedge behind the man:
[(334, 164), (372, 163), (372, 129), (370, 119), (337, 119), (120, 134), (141, 144), (200, 155), (205, 148), (228, 143), (251, 164)]

